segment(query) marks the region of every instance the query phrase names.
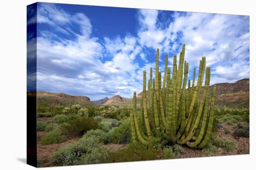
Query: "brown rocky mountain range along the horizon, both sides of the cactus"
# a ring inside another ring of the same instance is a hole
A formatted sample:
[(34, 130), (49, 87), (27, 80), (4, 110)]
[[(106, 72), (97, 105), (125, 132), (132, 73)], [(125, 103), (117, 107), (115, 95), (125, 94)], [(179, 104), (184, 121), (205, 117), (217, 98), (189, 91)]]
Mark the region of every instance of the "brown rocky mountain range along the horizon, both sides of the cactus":
[[(209, 93), (211, 94), (212, 86)], [(203, 87), (201, 94), (203, 92)], [(33, 92), (28, 92), (28, 95)], [(35, 93), (35, 92), (34, 92)], [(137, 102), (140, 102), (142, 92), (137, 95)], [(38, 91), (38, 104), (69, 106), (80, 104), (82, 106), (113, 105), (113, 106), (132, 106), (132, 98), (115, 95), (108, 99), (102, 98), (97, 101), (90, 101), (86, 96), (73, 96), (64, 93), (49, 93)], [(242, 79), (235, 83), (216, 84), (216, 107), (245, 107), (249, 108), (249, 79)]]

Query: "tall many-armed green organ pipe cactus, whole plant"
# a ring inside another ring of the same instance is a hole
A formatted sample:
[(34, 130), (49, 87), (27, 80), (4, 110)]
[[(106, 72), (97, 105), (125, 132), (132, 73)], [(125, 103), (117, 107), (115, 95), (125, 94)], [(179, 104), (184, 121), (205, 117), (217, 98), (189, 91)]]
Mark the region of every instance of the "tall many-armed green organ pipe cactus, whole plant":
[[(189, 63), (185, 61), (184, 44), (178, 65), (177, 56), (173, 57), (172, 73), (168, 68), (168, 55), (166, 55), (162, 82), (159, 71), (159, 49), (157, 49), (155, 79), (151, 67), (148, 96), (146, 71), (143, 72), (140, 114), (137, 114), (136, 92), (133, 96), (133, 112), (130, 114), (130, 122), (134, 143), (138, 139), (142, 144), (149, 145), (153, 138), (163, 134), (172, 143), (188, 145), (192, 148), (203, 148), (207, 145), (213, 126), (216, 86), (213, 86), (212, 94), (209, 96), (210, 67), (207, 67), (206, 71), (205, 67), (206, 57), (202, 57), (196, 85), (195, 69), (192, 81), (188, 80)], [(204, 90), (200, 98), (204, 75)]]

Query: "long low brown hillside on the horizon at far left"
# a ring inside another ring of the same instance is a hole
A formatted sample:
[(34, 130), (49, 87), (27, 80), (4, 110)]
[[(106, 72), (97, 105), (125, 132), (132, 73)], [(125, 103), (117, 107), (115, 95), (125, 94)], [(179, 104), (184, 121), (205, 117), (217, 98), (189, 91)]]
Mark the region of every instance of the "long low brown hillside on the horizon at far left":
[[(32, 95), (35, 92), (28, 92), (27, 95)], [(37, 103), (39, 105), (50, 106), (70, 106), (73, 104), (80, 104), (81, 106), (94, 106), (95, 104), (90, 101), (86, 96), (74, 96), (64, 93), (50, 93), (45, 91), (37, 91)]]

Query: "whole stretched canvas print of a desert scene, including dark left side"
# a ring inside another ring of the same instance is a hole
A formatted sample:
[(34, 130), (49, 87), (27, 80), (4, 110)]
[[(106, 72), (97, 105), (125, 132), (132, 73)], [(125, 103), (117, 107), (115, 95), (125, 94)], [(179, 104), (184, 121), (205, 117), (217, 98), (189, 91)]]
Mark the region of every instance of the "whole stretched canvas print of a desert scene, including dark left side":
[(249, 16), (27, 6), (27, 164), (249, 154)]

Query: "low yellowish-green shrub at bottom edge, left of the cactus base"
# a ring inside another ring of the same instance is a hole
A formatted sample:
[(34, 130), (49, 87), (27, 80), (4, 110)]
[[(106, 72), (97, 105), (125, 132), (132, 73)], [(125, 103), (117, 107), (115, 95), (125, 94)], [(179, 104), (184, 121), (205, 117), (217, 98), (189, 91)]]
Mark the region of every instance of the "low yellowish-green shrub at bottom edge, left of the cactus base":
[(140, 143), (130, 143), (127, 145), (127, 148), (113, 152), (115, 162), (155, 160), (158, 155), (160, 155), (159, 150), (154, 148), (149, 149), (147, 146)]

